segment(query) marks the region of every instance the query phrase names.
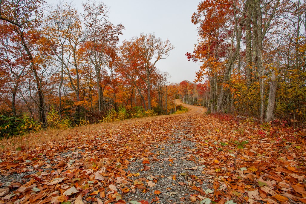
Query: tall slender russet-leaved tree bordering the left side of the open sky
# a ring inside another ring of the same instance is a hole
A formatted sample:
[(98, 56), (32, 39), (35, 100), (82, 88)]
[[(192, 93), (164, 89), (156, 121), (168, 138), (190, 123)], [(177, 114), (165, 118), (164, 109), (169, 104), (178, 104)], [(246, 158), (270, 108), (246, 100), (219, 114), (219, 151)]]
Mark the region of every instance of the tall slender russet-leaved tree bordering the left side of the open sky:
[(83, 5), (85, 11), (85, 25), (88, 29), (87, 52), (94, 66), (97, 78), (99, 111), (103, 105), (102, 75), (105, 67), (111, 62), (111, 54), (114, 53), (119, 41), (118, 35), (122, 34), (124, 27), (114, 25), (107, 19), (107, 8), (103, 3), (95, 1)]

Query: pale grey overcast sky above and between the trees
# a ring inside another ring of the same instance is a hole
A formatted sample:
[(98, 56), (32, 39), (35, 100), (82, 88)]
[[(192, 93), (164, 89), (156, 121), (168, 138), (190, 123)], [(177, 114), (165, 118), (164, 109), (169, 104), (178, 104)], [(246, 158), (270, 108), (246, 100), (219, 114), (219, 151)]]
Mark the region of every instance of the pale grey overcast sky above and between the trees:
[[(68, 0), (69, 1), (69, 0)], [(97, 0), (99, 1), (99, 0)], [(47, 0), (52, 4), (56, 0)], [(72, 1), (82, 11), (82, 0)], [(160, 60), (156, 67), (169, 72), (170, 82), (193, 81), (200, 64), (188, 61), (186, 52), (192, 52), (197, 43), (196, 25), (191, 23), (192, 13), (200, 0), (103, 0), (109, 8), (109, 20), (121, 23), (125, 30), (120, 41), (139, 36), (140, 33), (155, 32), (156, 37), (167, 38), (175, 49), (166, 59)]]

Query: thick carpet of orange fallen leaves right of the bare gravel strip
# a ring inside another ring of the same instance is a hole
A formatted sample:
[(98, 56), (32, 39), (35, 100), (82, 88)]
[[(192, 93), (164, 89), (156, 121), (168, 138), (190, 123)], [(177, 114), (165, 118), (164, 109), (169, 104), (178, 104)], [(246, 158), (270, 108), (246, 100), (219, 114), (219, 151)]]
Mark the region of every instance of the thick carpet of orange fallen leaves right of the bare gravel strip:
[(219, 203), (306, 203), (303, 131), (216, 115), (195, 123), (193, 155), (211, 178), (209, 191), (193, 187), (200, 195)]

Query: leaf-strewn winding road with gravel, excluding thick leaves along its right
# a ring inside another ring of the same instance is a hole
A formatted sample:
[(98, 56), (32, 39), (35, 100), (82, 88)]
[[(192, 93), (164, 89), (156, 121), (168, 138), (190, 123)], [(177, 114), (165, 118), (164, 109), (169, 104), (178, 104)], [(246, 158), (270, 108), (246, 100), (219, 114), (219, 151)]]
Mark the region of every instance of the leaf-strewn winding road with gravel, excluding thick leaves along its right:
[(73, 129), (65, 141), (4, 153), (1, 200), (189, 202), (190, 185), (206, 185), (193, 155), (195, 143), (188, 140), (205, 109), (176, 103), (190, 111)]

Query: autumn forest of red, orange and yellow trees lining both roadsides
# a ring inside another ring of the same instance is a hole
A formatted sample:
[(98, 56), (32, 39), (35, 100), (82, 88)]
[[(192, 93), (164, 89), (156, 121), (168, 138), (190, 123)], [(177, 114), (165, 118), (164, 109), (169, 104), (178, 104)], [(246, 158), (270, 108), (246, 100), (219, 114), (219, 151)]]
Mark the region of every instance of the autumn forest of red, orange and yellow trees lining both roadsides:
[[(174, 49), (141, 33), (121, 43), (124, 25), (102, 2), (1, 0), (2, 136), (41, 128), (176, 112), (174, 99), (208, 113), (305, 127), (304, 1), (206, 0), (191, 23), (199, 40), (188, 60), (194, 82), (170, 83), (156, 67)], [(186, 59), (186, 60), (187, 60)]]

